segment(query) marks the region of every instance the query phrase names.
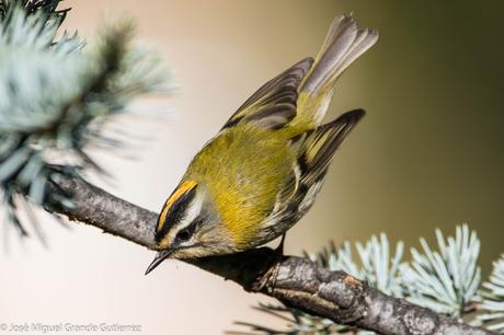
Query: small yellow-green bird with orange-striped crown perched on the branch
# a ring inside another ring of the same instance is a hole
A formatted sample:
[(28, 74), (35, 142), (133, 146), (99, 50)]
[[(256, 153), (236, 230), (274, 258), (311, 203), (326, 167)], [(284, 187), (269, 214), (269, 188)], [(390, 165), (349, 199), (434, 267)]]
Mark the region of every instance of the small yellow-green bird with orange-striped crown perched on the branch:
[(316, 59), (260, 88), (196, 154), (162, 207), (159, 250), (167, 258), (230, 254), (267, 243), (311, 207), (332, 157), (363, 109), (321, 124), (343, 71), (378, 39), (348, 15), (335, 18)]

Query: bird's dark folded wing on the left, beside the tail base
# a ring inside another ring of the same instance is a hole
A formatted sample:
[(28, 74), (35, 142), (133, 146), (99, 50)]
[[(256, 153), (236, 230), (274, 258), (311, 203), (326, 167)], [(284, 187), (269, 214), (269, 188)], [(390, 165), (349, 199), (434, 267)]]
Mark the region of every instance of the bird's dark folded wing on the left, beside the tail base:
[(305, 58), (266, 82), (234, 112), (221, 130), (240, 123), (253, 123), (265, 129), (287, 125), (296, 116), (298, 88), (312, 63), (312, 58)]

